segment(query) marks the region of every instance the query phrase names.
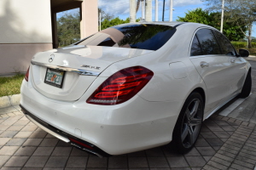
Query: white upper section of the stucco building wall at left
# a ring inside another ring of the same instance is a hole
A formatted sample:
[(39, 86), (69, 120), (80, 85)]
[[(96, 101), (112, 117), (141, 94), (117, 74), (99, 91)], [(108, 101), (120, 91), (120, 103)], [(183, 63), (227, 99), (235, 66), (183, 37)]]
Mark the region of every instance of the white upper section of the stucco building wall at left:
[(0, 43), (52, 43), (50, 0), (0, 0)]

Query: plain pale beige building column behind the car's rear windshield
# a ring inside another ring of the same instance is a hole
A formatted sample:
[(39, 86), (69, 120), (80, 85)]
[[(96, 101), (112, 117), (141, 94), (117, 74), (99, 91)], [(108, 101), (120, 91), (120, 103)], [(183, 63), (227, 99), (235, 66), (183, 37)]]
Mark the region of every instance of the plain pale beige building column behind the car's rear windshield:
[(98, 2), (84, 0), (81, 4), (81, 39), (98, 31)]

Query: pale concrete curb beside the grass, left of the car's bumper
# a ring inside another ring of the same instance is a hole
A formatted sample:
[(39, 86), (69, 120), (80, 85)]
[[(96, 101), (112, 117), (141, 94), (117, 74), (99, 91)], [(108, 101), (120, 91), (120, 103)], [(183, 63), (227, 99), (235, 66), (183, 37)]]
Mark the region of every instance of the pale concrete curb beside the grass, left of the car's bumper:
[(3, 96), (0, 98), (0, 109), (13, 105), (20, 105), (20, 94)]

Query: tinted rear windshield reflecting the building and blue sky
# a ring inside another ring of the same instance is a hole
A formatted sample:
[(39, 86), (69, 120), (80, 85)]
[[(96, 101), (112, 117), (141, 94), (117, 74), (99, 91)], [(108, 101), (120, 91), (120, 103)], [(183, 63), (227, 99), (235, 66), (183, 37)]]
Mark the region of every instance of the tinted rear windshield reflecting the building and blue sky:
[(175, 33), (176, 27), (151, 24), (124, 24), (84, 38), (76, 45), (157, 50)]

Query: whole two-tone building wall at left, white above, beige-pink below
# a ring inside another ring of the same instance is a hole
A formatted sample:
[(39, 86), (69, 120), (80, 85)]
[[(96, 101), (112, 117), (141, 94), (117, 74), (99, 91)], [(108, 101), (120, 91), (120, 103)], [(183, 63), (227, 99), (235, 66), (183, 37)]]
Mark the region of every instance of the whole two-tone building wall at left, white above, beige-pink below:
[(0, 37), (0, 74), (26, 71), (33, 54), (52, 48), (50, 0), (1, 0)]

